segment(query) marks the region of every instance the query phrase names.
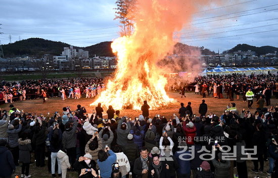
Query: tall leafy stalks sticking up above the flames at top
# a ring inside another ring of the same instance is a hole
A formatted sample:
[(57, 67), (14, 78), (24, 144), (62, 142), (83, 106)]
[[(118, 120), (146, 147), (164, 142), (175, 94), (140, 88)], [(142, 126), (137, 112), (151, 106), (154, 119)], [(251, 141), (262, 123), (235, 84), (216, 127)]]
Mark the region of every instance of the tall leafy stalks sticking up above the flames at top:
[(117, 0), (115, 19), (119, 19), (121, 23), (122, 31), (120, 32), (121, 36), (129, 36), (133, 30), (133, 22), (132, 22), (132, 11), (134, 10), (135, 0)]

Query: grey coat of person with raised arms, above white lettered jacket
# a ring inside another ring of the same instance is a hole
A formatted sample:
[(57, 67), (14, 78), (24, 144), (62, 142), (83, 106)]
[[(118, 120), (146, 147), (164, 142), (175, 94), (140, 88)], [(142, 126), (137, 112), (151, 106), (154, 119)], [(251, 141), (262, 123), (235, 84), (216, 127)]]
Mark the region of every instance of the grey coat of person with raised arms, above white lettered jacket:
[(124, 120), (125, 120), (124, 117), (120, 119), (117, 127), (117, 144), (120, 146), (126, 145), (127, 135), (129, 134), (129, 131), (131, 129), (131, 126), (128, 122), (126, 123), (126, 129), (125, 130), (121, 129), (121, 125)]

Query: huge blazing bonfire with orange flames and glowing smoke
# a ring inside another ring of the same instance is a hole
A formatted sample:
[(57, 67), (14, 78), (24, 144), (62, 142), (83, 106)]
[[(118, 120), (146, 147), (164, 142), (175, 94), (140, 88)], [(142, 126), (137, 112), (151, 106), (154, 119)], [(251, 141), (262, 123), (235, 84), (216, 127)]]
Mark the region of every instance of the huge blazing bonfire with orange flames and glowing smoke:
[(129, 36), (112, 43), (117, 54), (118, 69), (106, 90), (90, 105), (112, 105), (114, 109), (131, 106), (140, 110), (144, 100), (151, 109), (173, 101), (165, 92), (165, 70), (157, 62), (173, 48), (173, 34), (189, 22), (194, 11), (192, 1), (137, 0), (134, 30)]

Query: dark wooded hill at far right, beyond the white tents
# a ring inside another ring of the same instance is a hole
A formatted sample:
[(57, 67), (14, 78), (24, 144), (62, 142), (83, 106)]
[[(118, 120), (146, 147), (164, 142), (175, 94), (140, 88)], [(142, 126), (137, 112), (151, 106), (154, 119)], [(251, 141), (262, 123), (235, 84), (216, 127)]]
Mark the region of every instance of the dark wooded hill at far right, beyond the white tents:
[(278, 48), (273, 47), (273, 46), (256, 47), (256, 46), (251, 46), (251, 45), (247, 45), (247, 44), (239, 44), (230, 50), (223, 51), (223, 53), (233, 53), (233, 52), (237, 52), (239, 50), (242, 50), (242, 51), (251, 50), (251, 51), (256, 52), (257, 55), (263, 55), (263, 54), (267, 54), (267, 53), (274, 53), (274, 51), (278, 51)]

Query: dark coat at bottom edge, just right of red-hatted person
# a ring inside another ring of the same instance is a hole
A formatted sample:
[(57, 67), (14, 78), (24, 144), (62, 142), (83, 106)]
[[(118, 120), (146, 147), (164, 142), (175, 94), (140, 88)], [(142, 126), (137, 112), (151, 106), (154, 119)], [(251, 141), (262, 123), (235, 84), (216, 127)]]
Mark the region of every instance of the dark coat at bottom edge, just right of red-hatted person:
[(215, 167), (214, 177), (215, 178), (226, 178), (230, 175), (230, 161), (226, 160), (225, 163), (221, 163), (216, 159), (211, 160)]

